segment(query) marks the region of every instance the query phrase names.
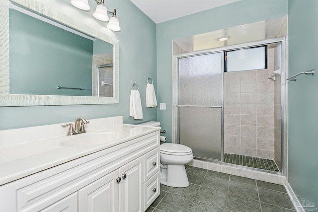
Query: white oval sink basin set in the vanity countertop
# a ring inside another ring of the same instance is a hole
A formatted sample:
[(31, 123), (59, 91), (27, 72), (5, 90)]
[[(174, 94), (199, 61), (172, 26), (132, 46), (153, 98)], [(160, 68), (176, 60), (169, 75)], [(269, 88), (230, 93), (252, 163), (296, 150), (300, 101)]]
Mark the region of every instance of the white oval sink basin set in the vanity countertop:
[(68, 136), (63, 141), (59, 141), (59, 145), (69, 147), (87, 147), (116, 141), (124, 138), (125, 136), (126, 133), (122, 131), (99, 131), (83, 133), (79, 135)]

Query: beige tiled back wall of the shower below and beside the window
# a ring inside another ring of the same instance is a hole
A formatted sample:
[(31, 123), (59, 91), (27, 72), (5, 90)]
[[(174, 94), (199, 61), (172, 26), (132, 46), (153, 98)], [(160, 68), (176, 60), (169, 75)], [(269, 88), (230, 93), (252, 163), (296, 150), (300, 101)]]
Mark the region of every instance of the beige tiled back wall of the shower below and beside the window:
[(224, 73), (225, 153), (274, 159), (274, 48), (267, 69)]

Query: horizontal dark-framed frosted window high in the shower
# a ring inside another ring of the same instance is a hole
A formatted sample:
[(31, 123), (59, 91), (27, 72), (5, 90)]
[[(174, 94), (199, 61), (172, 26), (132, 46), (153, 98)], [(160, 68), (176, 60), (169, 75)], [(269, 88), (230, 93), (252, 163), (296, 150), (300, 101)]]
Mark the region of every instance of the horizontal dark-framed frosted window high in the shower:
[(226, 72), (267, 68), (266, 46), (224, 52)]

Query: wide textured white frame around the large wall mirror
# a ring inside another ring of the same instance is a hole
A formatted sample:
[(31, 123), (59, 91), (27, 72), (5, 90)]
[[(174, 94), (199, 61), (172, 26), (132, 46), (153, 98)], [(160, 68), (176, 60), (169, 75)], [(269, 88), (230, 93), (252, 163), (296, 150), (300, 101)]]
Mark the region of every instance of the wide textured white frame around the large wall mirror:
[[(9, 1), (47, 16), (85, 34), (110, 43), (114, 47), (114, 96), (59, 96), (59, 95), (22, 95), (9, 93)], [(0, 107), (44, 106), (44, 105), (87, 105), (119, 103), (119, 41), (99, 32), (65, 14), (56, 11), (36, 0), (0, 0)]]

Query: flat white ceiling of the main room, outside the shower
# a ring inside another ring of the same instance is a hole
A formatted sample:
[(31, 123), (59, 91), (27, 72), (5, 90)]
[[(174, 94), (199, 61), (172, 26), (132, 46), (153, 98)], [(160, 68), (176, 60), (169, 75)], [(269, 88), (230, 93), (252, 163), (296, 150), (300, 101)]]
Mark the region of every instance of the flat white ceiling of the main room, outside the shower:
[(239, 0), (131, 0), (155, 23), (172, 20)]

